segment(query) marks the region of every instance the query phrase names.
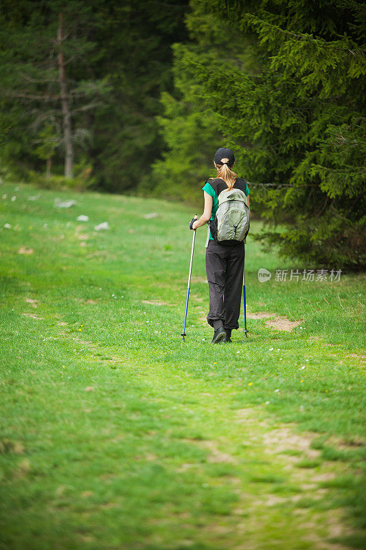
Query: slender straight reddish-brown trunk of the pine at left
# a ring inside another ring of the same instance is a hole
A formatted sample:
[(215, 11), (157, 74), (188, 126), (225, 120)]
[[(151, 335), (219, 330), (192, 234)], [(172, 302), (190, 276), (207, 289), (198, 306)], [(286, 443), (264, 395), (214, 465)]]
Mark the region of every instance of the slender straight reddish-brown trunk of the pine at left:
[(65, 143), (65, 177), (73, 177), (73, 143), (71, 135), (71, 115), (69, 109), (69, 97), (65, 76), (65, 59), (62, 53), (62, 13), (58, 14), (58, 82), (60, 84), (60, 96), (62, 107), (63, 138)]

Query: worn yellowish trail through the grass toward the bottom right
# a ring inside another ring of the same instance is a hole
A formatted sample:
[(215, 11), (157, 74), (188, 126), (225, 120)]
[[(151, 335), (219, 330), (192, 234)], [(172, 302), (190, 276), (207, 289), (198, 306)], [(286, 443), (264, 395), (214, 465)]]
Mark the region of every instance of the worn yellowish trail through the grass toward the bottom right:
[[(82, 340), (81, 334), (66, 338), (87, 345), (91, 360), (114, 362), (116, 368), (126, 363), (126, 349), (111, 356), (98, 342)], [(146, 439), (139, 462), (163, 464), (172, 476), (202, 479), (202, 487), (214, 491), (213, 495), (222, 490), (233, 496), (225, 514), (212, 514), (199, 529), (194, 511), (187, 510), (184, 525), (192, 529), (196, 544), (209, 542), (222, 550), (293, 550), (297, 544), (304, 550), (347, 550), (332, 540), (352, 532), (343, 510), (315, 505), (328, 501), (329, 489), (323, 483), (343, 467), (323, 461), (312, 448), (312, 440), (319, 434), (298, 433), (295, 425), (275, 423), (265, 415), (263, 406), (238, 408), (231, 384), (215, 385), (212, 377), (206, 380), (183, 368), (152, 365), (151, 358), (142, 358), (137, 352), (130, 352), (128, 363), (131, 377), (142, 377), (146, 384), (146, 401), (158, 401), (159, 413), (171, 419), (170, 430), (159, 437), (173, 445), (179, 441), (199, 449), (205, 456), (196, 458), (192, 452), (192, 458), (183, 463), (179, 456), (162, 459)], [(92, 394), (94, 389), (86, 386), (84, 391)], [(188, 404), (182, 396), (189, 397)], [(141, 409), (139, 419), (143, 417)], [(176, 435), (176, 426), (180, 435)], [(189, 436), (197, 430), (199, 437)], [(174, 515), (153, 521), (154, 525), (161, 522), (163, 528), (167, 520), (181, 521)], [(273, 546), (268, 545), (271, 540)]]

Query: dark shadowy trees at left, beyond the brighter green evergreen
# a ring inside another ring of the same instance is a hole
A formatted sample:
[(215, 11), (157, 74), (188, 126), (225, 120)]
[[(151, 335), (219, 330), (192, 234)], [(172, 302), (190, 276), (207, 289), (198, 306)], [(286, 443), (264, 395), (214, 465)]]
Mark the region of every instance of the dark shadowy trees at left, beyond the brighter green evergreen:
[(3, 0), (1, 164), (66, 178), (87, 166), (115, 192), (148, 179), (186, 10), (184, 0)]

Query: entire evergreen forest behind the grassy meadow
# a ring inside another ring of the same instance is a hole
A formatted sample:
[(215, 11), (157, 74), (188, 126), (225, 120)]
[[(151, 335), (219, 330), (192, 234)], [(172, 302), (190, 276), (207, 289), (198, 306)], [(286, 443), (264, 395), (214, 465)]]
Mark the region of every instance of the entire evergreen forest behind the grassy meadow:
[(0, 175), (203, 204), (214, 152), (255, 234), (366, 266), (365, 3), (2, 0)]

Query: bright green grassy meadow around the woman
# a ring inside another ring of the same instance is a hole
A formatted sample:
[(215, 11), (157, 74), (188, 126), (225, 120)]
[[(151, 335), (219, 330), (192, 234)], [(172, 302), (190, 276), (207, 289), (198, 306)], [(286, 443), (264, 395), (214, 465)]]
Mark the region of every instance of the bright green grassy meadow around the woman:
[(310, 550), (334, 521), (361, 548), (364, 275), (280, 283), (277, 268), (317, 266), (249, 237), (249, 312), (301, 325), (249, 319), (249, 338), (211, 346), (198, 230), (183, 343), (188, 208), (0, 193), (1, 550)]

